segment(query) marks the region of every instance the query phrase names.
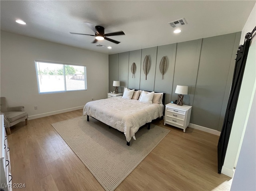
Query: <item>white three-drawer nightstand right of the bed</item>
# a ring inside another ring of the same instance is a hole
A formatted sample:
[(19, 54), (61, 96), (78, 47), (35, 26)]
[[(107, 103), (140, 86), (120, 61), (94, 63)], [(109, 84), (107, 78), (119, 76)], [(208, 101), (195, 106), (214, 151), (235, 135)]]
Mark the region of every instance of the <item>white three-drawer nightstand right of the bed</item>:
[(168, 103), (165, 105), (164, 125), (169, 124), (186, 131), (190, 122), (192, 106), (189, 105), (176, 105)]

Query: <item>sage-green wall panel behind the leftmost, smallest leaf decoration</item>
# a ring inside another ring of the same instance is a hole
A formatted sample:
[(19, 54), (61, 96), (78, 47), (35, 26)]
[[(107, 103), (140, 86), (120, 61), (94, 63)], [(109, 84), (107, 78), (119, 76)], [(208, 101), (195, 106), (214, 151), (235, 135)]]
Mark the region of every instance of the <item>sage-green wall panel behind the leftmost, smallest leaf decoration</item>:
[[(132, 63), (136, 64), (136, 73), (132, 77)], [(129, 67), (128, 67), (128, 88), (140, 89), (140, 65), (141, 65), (141, 49), (129, 52)]]

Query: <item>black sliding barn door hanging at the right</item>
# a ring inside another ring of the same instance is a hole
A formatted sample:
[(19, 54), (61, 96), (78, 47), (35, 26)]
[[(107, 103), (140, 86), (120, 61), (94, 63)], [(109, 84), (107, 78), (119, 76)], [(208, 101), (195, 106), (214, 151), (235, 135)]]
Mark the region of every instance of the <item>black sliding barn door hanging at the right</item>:
[[(252, 33), (255, 30), (256, 30), (256, 27), (254, 28)], [(235, 65), (230, 95), (228, 99), (228, 106), (226, 109), (224, 123), (220, 133), (220, 138), (218, 141), (218, 173), (219, 174), (221, 173), (222, 166), (224, 164), (224, 159), (226, 156), (226, 151), (228, 148), (228, 140), (230, 137), (231, 127), (234, 120), (234, 114), (236, 111), (236, 105), (238, 101), (240, 87), (242, 84), (244, 68), (245, 68), (246, 59), (249, 51), (250, 41), (252, 39), (252, 33), (246, 34), (244, 45), (240, 45), (237, 51), (236, 65)]]

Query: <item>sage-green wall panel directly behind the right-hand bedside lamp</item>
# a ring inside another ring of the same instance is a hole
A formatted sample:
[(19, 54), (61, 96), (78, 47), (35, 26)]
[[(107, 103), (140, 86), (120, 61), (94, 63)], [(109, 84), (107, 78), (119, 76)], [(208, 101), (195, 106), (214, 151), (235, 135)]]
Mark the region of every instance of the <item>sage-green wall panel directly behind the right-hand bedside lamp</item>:
[(183, 103), (193, 105), (201, 44), (202, 39), (177, 44), (172, 101), (178, 99), (176, 86), (184, 85), (188, 86), (188, 95), (184, 95)]

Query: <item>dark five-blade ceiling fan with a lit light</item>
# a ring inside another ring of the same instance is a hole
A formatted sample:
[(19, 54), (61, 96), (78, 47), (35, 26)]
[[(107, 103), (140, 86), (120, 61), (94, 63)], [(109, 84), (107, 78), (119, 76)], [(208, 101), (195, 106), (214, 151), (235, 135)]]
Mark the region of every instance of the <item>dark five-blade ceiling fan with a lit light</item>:
[(116, 36), (116, 35), (125, 35), (124, 32), (122, 31), (118, 31), (118, 32), (113, 32), (113, 33), (104, 33), (104, 27), (102, 26), (95, 26), (95, 28), (91, 28), (92, 31), (95, 33), (95, 35), (91, 35), (91, 34), (82, 34), (82, 33), (73, 33), (70, 32), (71, 34), (81, 34), (81, 35), (88, 35), (88, 36), (95, 36), (95, 40), (92, 43), (96, 43), (98, 40), (108, 40), (110, 42), (119, 44), (119, 41), (113, 40), (108, 38), (107, 36)]

